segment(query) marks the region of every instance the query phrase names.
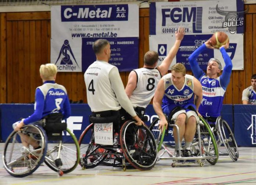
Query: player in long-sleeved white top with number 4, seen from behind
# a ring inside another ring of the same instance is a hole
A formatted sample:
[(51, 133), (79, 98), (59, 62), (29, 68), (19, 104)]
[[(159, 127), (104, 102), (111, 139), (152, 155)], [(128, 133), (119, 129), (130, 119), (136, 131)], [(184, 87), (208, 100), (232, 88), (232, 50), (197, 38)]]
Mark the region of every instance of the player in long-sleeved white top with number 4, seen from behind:
[[(96, 40), (93, 43), (93, 51), (96, 55), (96, 61), (88, 67), (84, 74), (87, 101), (92, 110), (92, 116), (118, 116), (122, 107), (137, 121), (137, 125), (144, 124), (136, 115), (125, 94), (117, 67), (109, 64), (111, 53), (109, 41)], [(117, 125), (115, 125), (116, 129)], [(119, 131), (116, 130), (115, 132)]]

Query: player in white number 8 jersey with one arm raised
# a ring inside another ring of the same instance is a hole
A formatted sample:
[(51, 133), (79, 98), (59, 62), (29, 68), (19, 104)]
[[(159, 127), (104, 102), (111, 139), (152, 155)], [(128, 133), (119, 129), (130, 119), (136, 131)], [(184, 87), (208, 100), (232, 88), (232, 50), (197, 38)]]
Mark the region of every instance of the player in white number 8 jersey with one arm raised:
[(175, 33), (176, 41), (174, 46), (171, 48), (161, 65), (156, 67), (158, 53), (155, 51), (148, 51), (144, 55), (143, 68), (132, 70), (129, 74), (125, 92), (130, 98), (132, 106), (139, 114), (143, 115), (146, 106), (149, 105), (153, 98), (157, 83), (168, 71), (171, 62), (177, 54), (184, 34), (184, 28), (179, 28), (178, 32)]

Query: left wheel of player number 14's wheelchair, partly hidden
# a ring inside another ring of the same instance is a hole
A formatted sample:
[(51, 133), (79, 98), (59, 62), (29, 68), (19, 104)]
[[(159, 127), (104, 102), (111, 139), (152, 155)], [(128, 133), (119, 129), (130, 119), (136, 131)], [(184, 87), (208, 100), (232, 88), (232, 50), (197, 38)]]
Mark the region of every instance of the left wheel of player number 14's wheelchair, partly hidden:
[(163, 133), (161, 133), (161, 130), (158, 129), (158, 123), (159, 123), (159, 118), (155, 119), (149, 127), (149, 130), (152, 132), (154, 139), (156, 140), (156, 146), (157, 146), (157, 152), (161, 150), (161, 145), (164, 140), (164, 134), (165, 133), (165, 127), (163, 130)]

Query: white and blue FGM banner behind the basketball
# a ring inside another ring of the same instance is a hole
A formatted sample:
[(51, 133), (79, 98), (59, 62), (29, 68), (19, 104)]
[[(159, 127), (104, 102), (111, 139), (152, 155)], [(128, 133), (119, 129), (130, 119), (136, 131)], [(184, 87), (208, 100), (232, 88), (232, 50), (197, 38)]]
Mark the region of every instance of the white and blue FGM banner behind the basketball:
[[(249, 10), (249, 9), (248, 9)], [(234, 70), (243, 70), (243, 11), (242, 0), (186, 1), (150, 3), (150, 50), (159, 53), (159, 62), (167, 56), (175, 42), (175, 32), (185, 28), (185, 36), (172, 65), (182, 63), (191, 70), (188, 57), (215, 32), (225, 32), (230, 38), (230, 56)], [(218, 49), (207, 49), (198, 57), (201, 69), (206, 70), (210, 58), (220, 59)]]

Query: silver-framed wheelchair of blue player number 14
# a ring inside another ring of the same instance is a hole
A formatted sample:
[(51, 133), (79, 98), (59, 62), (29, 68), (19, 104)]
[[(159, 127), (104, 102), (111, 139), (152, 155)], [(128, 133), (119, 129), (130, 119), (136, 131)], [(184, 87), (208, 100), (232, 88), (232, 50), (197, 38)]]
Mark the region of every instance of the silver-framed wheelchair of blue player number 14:
[[(180, 141), (179, 141), (179, 127), (173, 123), (173, 121), (168, 121), (168, 128), (164, 127), (163, 133), (158, 128), (159, 118), (153, 120), (150, 124), (150, 130), (154, 135), (157, 143), (157, 151), (158, 157), (157, 160), (160, 159), (170, 159), (173, 160), (171, 164), (172, 167), (175, 167), (177, 163), (199, 163), (201, 167), (205, 165), (205, 160), (207, 160), (210, 164), (214, 165), (218, 160), (218, 146), (216, 139), (214, 137), (213, 131), (211, 130), (209, 124), (205, 121), (202, 121), (200, 118), (199, 123), (196, 124), (196, 134), (195, 138), (192, 141), (191, 149), (194, 152), (192, 157), (182, 157), (180, 150)], [(168, 117), (166, 116), (166, 120)], [(174, 152), (171, 149), (175, 148), (175, 144), (167, 144), (164, 142), (164, 136), (168, 135), (168, 131), (170, 127), (176, 127), (177, 135), (178, 135), (178, 150), (179, 155), (175, 156)], [(168, 155), (168, 157), (164, 156), (164, 154)]]

